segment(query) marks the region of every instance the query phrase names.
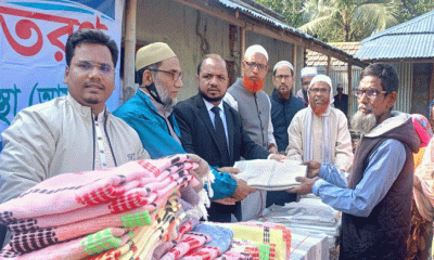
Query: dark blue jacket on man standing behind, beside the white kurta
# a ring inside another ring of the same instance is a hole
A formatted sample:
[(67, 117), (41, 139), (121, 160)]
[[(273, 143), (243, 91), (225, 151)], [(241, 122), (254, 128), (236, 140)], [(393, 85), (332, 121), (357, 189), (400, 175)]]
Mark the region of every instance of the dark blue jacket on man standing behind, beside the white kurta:
[(305, 108), (305, 104), (302, 100), (291, 95), (289, 100), (279, 99), (276, 93), (276, 89), (271, 95), (271, 122), (275, 129), (273, 135), (278, 150), (285, 151), (288, 147), (288, 128), (292, 121), (292, 118)]

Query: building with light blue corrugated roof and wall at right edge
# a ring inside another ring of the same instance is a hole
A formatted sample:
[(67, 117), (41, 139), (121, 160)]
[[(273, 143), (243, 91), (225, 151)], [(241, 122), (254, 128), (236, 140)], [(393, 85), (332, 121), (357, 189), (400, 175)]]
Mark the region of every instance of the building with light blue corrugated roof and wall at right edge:
[(399, 76), (395, 108), (427, 115), (434, 99), (434, 11), (362, 40), (356, 57), (392, 64)]

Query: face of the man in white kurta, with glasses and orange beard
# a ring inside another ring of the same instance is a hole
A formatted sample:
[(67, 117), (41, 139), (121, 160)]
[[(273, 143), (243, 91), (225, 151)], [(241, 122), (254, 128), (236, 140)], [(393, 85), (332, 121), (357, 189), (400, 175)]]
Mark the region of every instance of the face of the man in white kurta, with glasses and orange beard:
[(309, 104), (315, 114), (322, 115), (326, 112), (330, 104), (330, 86), (323, 81), (317, 81), (310, 87)]

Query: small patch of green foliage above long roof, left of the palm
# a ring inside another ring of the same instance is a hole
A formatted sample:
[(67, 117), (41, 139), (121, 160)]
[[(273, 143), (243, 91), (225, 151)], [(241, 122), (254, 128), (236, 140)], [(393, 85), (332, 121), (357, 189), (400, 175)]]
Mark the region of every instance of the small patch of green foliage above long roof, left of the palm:
[(292, 27), (299, 27), (307, 22), (303, 15), (305, 0), (256, 0), (256, 2), (283, 15), (285, 23)]

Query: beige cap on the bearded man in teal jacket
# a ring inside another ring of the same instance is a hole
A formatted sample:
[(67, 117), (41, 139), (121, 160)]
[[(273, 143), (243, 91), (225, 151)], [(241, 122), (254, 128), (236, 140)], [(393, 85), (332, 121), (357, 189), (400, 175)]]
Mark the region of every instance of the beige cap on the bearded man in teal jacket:
[(144, 68), (151, 64), (162, 62), (176, 56), (175, 52), (164, 42), (154, 42), (142, 47), (136, 54), (136, 70)]

